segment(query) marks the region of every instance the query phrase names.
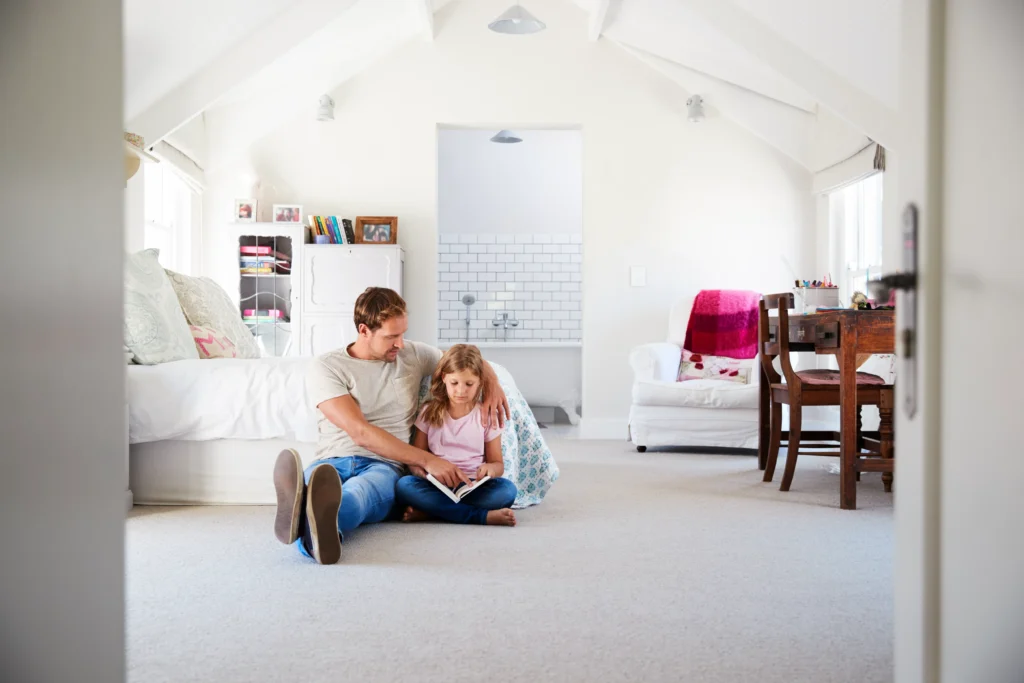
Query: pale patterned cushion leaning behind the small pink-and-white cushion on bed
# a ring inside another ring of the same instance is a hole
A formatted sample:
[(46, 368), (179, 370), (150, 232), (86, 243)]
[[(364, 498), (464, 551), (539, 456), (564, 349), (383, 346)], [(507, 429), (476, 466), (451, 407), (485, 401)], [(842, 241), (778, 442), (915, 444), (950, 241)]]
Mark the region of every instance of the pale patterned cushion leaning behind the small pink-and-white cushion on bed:
[(259, 357), (256, 338), (242, 322), (238, 307), (220, 285), (209, 278), (191, 278), (173, 270), (168, 270), (167, 276), (189, 325), (217, 330), (234, 346), (234, 357)]

